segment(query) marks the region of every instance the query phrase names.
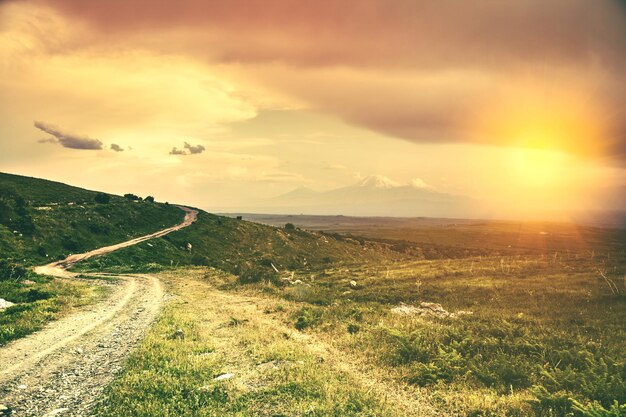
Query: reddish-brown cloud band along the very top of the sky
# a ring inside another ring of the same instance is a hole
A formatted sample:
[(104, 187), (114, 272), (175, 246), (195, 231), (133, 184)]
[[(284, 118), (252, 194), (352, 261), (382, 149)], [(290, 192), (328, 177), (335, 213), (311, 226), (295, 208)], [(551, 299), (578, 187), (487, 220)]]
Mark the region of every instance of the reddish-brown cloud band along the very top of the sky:
[(224, 60), (445, 67), (626, 59), (624, 10), (614, 0), (40, 1), (107, 34), (210, 27), (194, 42)]

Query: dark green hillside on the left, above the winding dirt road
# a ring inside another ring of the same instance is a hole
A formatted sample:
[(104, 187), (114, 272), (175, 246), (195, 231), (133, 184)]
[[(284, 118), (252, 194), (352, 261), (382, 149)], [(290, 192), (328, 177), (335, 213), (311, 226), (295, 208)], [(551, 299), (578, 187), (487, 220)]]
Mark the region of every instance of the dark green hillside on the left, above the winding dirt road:
[(172, 226), (184, 213), (58, 182), (0, 173), (0, 258), (33, 265)]

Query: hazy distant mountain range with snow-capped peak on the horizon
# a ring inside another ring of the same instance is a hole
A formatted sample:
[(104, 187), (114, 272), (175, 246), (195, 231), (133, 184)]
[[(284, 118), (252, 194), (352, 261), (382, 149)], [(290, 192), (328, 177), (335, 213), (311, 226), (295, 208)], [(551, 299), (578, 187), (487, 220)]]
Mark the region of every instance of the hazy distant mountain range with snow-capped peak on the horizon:
[(419, 180), (399, 184), (382, 175), (371, 175), (356, 184), (330, 191), (299, 187), (264, 201), (254, 210), (352, 216), (471, 217), (475, 208), (475, 200), (439, 192)]

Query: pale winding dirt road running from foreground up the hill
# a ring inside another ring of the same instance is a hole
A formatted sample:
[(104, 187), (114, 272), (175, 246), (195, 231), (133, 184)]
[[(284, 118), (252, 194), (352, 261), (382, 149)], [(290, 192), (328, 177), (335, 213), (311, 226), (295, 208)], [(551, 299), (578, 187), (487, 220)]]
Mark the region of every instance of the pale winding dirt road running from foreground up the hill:
[[(196, 221), (186, 212), (182, 223), (127, 242), (75, 254), (35, 268), (40, 274), (75, 276), (67, 268), (81, 260), (164, 236)], [(151, 275), (94, 274), (111, 287), (110, 296), (87, 309), (50, 323), (43, 330), (0, 348), (0, 415), (85, 416), (123, 360), (157, 317), (164, 293)], [(106, 279), (104, 279), (106, 276)]]

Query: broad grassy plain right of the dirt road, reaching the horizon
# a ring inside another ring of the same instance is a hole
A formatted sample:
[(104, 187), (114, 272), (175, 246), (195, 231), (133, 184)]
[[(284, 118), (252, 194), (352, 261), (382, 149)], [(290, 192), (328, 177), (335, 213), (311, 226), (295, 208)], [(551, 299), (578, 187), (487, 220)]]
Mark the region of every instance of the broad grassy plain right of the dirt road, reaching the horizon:
[(400, 257), (246, 282), (163, 269), (176, 297), (100, 414), (625, 415), (624, 230), (272, 218), (244, 216)]

